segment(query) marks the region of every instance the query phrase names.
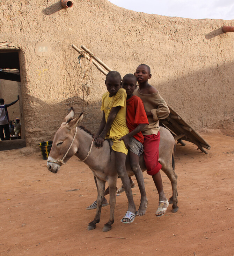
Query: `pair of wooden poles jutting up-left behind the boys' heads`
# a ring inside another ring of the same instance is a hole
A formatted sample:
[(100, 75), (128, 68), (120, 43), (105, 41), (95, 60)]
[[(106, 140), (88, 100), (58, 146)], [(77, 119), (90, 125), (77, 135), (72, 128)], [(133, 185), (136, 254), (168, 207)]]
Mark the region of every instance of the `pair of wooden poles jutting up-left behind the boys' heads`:
[[(112, 71), (111, 68), (109, 68), (107, 65), (105, 65), (105, 63), (103, 61), (101, 61), (100, 59), (98, 59), (95, 54), (93, 54), (88, 48), (86, 48), (85, 46), (81, 45), (81, 48), (83, 50), (80, 50), (78, 47), (76, 47), (75, 45), (72, 45), (72, 47), (80, 54), (80, 57), (86, 58), (87, 60), (90, 61), (90, 63), (93, 63), (98, 70), (100, 70), (104, 75), (107, 75), (108, 72)], [(100, 65), (101, 66), (100, 66)], [(107, 70), (107, 71), (105, 71)]]

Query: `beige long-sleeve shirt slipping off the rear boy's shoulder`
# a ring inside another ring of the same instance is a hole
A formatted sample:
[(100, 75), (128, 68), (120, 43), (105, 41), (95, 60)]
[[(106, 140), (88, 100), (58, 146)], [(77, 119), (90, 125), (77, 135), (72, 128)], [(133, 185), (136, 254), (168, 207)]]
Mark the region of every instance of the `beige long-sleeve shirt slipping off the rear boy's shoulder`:
[(170, 114), (167, 103), (163, 100), (158, 92), (152, 94), (143, 94), (136, 89), (133, 94), (141, 98), (144, 103), (145, 112), (152, 113), (152, 116), (147, 116), (149, 124), (141, 131), (142, 134), (158, 134), (159, 119), (165, 119)]

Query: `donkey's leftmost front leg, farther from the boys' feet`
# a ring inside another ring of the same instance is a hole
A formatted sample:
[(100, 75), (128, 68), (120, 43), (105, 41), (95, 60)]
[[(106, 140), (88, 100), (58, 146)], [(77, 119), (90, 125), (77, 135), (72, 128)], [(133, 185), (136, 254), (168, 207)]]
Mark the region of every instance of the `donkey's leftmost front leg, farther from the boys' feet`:
[(105, 190), (105, 181), (97, 178), (97, 210), (95, 218), (92, 222), (88, 224), (87, 230), (92, 230), (96, 228), (96, 223), (100, 221), (101, 209), (102, 209), (102, 201), (104, 198), (104, 190)]

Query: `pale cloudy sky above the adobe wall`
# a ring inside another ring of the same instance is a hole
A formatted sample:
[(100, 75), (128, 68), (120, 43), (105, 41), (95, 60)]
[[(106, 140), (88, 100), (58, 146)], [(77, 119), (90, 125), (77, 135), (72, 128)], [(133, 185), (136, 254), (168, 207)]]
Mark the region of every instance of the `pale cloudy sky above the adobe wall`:
[(233, 0), (109, 0), (136, 12), (191, 19), (234, 19)]

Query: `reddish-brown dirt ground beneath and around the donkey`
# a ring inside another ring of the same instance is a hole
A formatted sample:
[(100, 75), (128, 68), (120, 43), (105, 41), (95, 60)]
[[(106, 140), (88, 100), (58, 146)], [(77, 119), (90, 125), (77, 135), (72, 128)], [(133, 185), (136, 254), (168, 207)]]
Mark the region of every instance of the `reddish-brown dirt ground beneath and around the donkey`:
[[(234, 137), (219, 131), (200, 134), (211, 145), (209, 155), (192, 143), (177, 146), (177, 213), (170, 205), (164, 216), (155, 216), (158, 194), (144, 173), (146, 215), (120, 223), (127, 209), (123, 193), (106, 233), (109, 206), (103, 207), (96, 229), (86, 230), (95, 210), (85, 208), (95, 200), (96, 189), (84, 163), (72, 157), (53, 174), (39, 150), (1, 151), (0, 255), (234, 255)], [(169, 198), (170, 182), (161, 174)], [(136, 186), (137, 206), (139, 196)]]

